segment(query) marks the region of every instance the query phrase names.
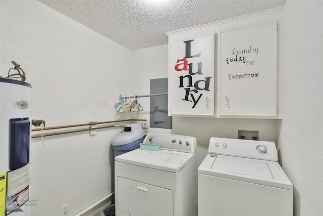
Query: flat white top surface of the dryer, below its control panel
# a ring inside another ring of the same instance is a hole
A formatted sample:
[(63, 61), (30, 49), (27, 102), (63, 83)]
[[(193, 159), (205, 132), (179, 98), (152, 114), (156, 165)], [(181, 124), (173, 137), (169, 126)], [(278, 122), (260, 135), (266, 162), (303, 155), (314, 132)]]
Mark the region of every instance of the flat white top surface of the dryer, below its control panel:
[(178, 172), (194, 156), (193, 153), (169, 151), (146, 151), (135, 149), (115, 158), (116, 161), (155, 168), (165, 171)]

